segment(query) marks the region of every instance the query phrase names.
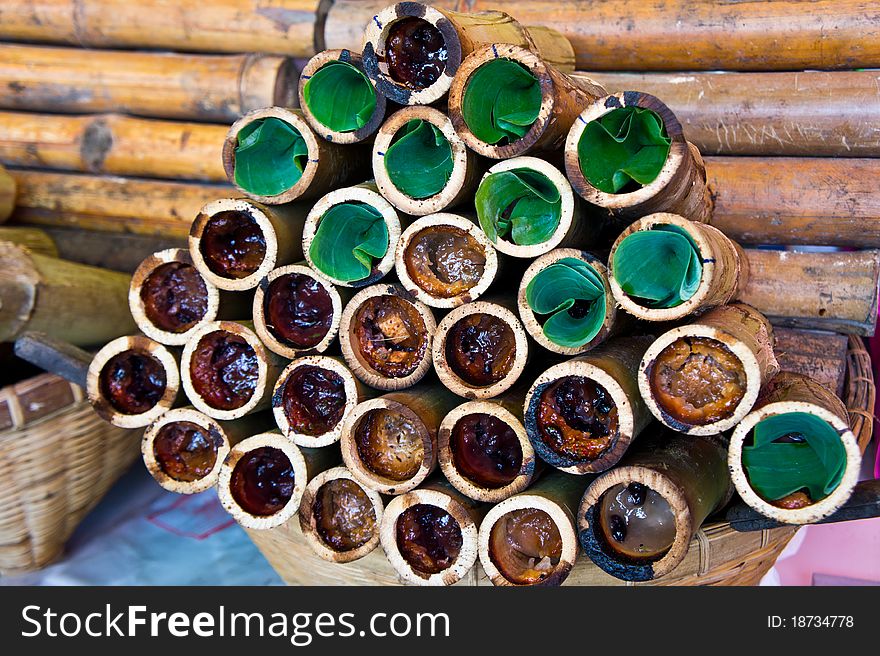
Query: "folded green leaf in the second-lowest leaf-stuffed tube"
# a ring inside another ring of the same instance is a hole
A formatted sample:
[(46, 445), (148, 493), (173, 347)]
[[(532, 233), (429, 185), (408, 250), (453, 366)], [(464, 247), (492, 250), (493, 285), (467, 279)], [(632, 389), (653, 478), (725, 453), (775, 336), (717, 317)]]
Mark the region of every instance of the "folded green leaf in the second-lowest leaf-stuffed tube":
[[(536, 314), (550, 315), (542, 327), (547, 339), (562, 347), (578, 348), (602, 328), (605, 293), (596, 269), (582, 260), (565, 257), (532, 278), (526, 286), (526, 302)], [(577, 301), (581, 303), (575, 307)]]

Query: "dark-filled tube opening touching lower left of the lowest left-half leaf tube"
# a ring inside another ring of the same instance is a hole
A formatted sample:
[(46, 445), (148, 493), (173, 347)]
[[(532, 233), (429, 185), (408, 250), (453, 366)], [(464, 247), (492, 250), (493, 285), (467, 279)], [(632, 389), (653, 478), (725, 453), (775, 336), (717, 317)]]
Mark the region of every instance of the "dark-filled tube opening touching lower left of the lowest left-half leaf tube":
[(254, 330), (267, 348), (285, 358), (326, 351), (341, 315), (336, 287), (300, 264), (273, 270), (254, 294)]

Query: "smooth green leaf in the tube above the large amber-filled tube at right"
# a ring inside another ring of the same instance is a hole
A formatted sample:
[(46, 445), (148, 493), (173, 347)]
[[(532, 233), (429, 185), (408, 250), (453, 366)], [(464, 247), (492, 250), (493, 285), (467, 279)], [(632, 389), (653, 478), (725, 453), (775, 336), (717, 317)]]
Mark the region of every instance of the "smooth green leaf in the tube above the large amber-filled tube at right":
[(650, 308), (672, 308), (693, 296), (703, 276), (700, 250), (675, 225), (640, 230), (620, 242), (611, 271), (621, 289)]

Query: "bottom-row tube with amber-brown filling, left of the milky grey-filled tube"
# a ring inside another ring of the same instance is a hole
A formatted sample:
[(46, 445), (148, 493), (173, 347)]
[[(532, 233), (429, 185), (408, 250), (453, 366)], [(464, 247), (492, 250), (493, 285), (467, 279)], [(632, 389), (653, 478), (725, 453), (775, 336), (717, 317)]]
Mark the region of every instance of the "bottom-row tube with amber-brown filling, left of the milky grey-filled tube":
[(575, 514), (587, 481), (544, 475), (493, 506), (480, 524), (480, 564), (497, 586), (560, 585), (578, 552)]

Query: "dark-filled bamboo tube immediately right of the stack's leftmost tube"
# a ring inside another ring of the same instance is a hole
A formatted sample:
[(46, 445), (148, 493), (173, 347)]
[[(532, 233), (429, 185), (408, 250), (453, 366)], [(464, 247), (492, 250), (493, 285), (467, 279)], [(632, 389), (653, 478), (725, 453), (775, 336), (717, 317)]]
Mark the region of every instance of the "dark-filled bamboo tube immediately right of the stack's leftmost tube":
[(197, 410), (214, 419), (238, 419), (271, 405), (283, 363), (244, 323), (213, 321), (193, 331), (180, 372)]

